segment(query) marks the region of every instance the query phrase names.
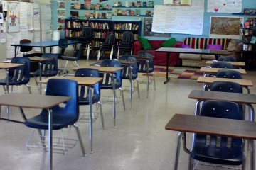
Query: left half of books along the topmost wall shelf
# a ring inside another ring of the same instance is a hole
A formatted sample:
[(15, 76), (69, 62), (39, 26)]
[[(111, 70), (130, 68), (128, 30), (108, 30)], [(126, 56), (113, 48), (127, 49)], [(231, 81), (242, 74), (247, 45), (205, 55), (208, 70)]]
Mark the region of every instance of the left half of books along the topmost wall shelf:
[(71, 4), (71, 9), (91, 9), (91, 10), (110, 10), (111, 5), (110, 4), (91, 4), (85, 6), (85, 4)]

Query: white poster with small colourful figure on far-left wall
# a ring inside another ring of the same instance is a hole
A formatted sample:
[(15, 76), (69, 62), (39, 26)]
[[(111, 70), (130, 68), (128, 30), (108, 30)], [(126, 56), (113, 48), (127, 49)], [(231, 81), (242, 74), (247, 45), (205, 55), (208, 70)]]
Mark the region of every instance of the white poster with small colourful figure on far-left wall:
[(8, 33), (19, 32), (19, 6), (18, 2), (8, 2), (7, 23)]

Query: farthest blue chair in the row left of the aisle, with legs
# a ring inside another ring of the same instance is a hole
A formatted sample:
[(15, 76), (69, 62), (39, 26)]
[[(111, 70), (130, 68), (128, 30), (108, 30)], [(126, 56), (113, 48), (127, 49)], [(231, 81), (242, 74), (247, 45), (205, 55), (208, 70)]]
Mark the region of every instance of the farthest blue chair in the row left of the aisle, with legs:
[[(145, 51), (142, 51), (142, 52), (139, 52), (138, 57), (154, 57), (154, 54), (153, 52), (145, 52)], [(151, 73), (153, 74), (153, 79), (154, 79), (154, 89), (156, 89), (156, 81), (155, 81), (155, 76), (154, 76), (154, 59), (153, 58), (149, 58), (148, 59), (148, 62), (149, 62), (149, 70), (147, 71), (147, 66), (146, 66), (146, 60), (144, 59), (138, 59), (139, 62), (138, 62), (138, 72), (140, 73)], [(147, 86), (147, 97), (149, 96), (149, 77), (147, 77), (148, 81), (148, 86)]]

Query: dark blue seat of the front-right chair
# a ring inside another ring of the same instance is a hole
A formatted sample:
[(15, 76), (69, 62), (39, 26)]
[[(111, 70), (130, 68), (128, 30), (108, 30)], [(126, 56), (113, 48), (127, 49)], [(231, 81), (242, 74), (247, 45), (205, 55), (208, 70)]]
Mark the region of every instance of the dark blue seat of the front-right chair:
[(191, 152), (191, 157), (196, 160), (213, 164), (242, 164), (243, 150), (241, 146), (228, 147), (210, 147), (205, 142), (195, 142)]

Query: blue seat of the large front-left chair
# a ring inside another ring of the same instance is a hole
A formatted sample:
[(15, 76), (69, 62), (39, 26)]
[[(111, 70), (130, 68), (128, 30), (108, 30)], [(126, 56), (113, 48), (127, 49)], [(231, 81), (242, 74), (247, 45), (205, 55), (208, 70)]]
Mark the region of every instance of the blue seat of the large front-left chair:
[[(53, 130), (60, 130), (68, 125), (73, 125), (77, 120), (78, 118), (75, 115), (63, 115), (61, 111), (54, 111)], [(40, 115), (27, 119), (25, 125), (31, 128), (48, 130), (48, 111), (43, 110)]]

